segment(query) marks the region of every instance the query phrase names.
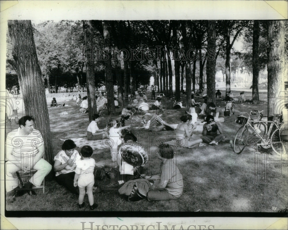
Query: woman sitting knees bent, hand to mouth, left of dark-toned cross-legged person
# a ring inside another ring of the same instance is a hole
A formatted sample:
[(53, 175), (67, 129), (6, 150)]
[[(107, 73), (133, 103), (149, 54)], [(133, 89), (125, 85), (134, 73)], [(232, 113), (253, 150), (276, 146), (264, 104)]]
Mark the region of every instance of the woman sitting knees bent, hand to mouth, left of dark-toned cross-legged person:
[[(191, 147), (202, 142), (202, 139), (198, 138), (197, 135), (192, 132), (196, 129), (196, 125), (191, 125), (192, 116), (190, 114), (185, 114), (180, 117), (181, 123), (178, 124), (175, 132), (177, 138), (179, 138), (181, 145), (178, 147)], [(190, 127), (191, 126), (191, 127)]]

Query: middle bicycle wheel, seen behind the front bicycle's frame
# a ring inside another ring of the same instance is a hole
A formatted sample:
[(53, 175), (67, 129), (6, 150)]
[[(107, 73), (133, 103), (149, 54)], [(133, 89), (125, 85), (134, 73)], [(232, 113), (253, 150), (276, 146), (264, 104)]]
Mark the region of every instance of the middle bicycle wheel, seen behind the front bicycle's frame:
[(258, 148), (258, 143), (262, 142), (262, 139), (265, 139), (264, 135), (266, 134), (266, 126), (263, 122), (253, 122), (251, 126), (247, 126), (248, 137), (246, 139), (245, 145), (251, 148)]

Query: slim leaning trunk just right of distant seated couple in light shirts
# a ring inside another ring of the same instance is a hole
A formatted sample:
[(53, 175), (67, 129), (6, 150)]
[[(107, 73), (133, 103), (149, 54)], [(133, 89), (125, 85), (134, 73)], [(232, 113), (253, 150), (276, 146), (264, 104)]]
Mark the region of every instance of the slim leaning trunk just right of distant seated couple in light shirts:
[(111, 63), (111, 41), (110, 41), (110, 25), (109, 21), (102, 21), (103, 37), (105, 52), (108, 54), (108, 60), (105, 60), (105, 77), (106, 77), (106, 91), (107, 91), (107, 107), (108, 115), (115, 115), (114, 104), (114, 86), (112, 77), (112, 63)]

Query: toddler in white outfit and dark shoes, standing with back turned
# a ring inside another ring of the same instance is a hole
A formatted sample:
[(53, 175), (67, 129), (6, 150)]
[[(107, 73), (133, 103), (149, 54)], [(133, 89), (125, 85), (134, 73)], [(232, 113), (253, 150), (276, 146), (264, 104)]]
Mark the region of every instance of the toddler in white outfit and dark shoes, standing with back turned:
[(94, 210), (97, 208), (97, 204), (94, 204), (93, 197), (93, 185), (94, 185), (94, 167), (95, 160), (91, 158), (93, 154), (93, 149), (89, 145), (85, 145), (81, 148), (80, 155), (82, 160), (76, 162), (74, 186), (79, 187), (79, 208), (85, 206), (84, 196), (85, 188), (87, 189), (88, 200), (90, 204), (90, 209)]

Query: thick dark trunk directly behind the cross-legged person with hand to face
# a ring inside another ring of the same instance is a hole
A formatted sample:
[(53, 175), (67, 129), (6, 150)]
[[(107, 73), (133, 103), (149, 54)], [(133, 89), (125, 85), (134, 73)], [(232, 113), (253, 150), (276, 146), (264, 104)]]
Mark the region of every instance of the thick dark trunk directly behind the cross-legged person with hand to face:
[[(209, 20), (208, 22), (208, 31), (207, 31), (207, 50), (214, 52), (216, 50), (216, 29), (215, 29), (215, 20)], [(207, 59), (206, 64), (206, 75), (207, 75), (207, 98), (208, 103), (213, 102), (215, 104), (215, 66), (216, 59), (212, 58), (211, 60)], [(207, 114), (209, 114), (209, 108), (207, 107)]]

